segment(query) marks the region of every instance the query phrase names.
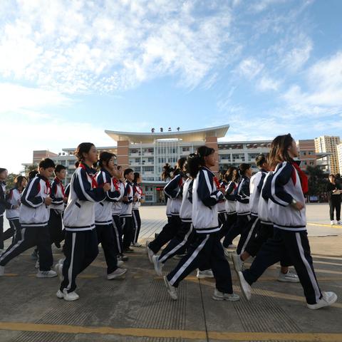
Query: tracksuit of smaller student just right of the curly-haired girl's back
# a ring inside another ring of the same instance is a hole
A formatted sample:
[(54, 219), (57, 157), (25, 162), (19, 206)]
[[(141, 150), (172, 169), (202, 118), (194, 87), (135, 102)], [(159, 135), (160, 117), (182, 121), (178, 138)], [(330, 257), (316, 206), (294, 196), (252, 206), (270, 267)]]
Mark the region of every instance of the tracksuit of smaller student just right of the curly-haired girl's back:
[(235, 198), (235, 192), (237, 191), (238, 185), (239, 183), (231, 180), (227, 184), (226, 194), (224, 195), (224, 198), (226, 199), (224, 201), (224, 206), (226, 208), (227, 219), (220, 230), (220, 237), (224, 237), (223, 246), (226, 248), (229, 246), (229, 244), (233, 243), (232, 238), (226, 236), (229, 232), (229, 229), (231, 229), (237, 221), (237, 199)]

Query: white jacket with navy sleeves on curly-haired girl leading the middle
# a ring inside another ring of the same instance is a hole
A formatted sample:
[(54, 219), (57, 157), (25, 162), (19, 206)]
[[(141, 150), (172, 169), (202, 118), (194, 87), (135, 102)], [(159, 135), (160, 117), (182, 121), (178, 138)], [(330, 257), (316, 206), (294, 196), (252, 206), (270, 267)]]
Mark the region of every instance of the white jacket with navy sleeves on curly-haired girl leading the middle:
[(192, 186), (192, 224), (197, 233), (219, 231), (217, 203), (222, 199), (214, 174), (207, 167), (201, 167)]

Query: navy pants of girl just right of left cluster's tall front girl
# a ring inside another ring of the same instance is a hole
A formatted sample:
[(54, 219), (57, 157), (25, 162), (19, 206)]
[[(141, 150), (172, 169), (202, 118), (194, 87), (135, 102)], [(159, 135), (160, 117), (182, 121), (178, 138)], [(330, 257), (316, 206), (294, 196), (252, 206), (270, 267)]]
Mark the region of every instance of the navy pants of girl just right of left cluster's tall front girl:
[(115, 238), (113, 234), (112, 224), (96, 224), (96, 234), (98, 235), (98, 243), (101, 244), (103, 253), (105, 254), (105, 263), (107, 264), (107, 274), (118, 269), (118, 249), (115, 246)]

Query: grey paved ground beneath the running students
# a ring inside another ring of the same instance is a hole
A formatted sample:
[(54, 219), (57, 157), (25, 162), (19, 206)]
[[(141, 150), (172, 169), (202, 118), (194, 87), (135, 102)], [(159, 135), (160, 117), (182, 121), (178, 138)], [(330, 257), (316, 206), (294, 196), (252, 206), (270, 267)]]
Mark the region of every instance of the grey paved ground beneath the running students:
[[(31, 251), (6, 266), (0, 279), (1, 342), (69, 341), (342, 341), (342, 226), (328, 223), (326, 204), (307, 209), (314, 266), (323, 290), (336, 291), (334, 306), (306, 309), (300, 284), (276, 281), (279, 267), (254, 286), (252, 301), (213, 301), (212, 279), (195, 273), (182, 282), (172, 301), (144, 249), (126, 263), (125, 280), (105, 279), (100, 252), (78, 278), (81, 299), (67, 303), (55, 292), (58, 279), (36, 279)], [(143, 207), (140, 242), (152, 239), (165, 222), (165, 207)], [(327, 225), (324, 225), (327, 224)], [(61, 257), (55, 249), (56, 259)], [(171, 260), (165, 271), (175, 266)], [(233, 273), (234, 291), (239, 292)]]

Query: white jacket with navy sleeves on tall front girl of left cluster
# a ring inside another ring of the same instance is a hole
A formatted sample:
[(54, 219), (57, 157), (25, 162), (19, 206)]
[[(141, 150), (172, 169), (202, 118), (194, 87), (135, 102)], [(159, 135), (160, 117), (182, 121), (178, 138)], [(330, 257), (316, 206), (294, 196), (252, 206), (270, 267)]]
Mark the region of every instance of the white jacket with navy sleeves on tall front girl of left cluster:
[(64, 211), (67, 231), (82, 232), (95, 227), (95, 203), (105, 199), (105, 192), (102, 187), (97, 187), (93, 177), (95, 170), (88, 165), (79, 166), (73, 173)]

